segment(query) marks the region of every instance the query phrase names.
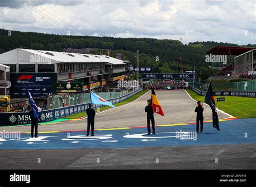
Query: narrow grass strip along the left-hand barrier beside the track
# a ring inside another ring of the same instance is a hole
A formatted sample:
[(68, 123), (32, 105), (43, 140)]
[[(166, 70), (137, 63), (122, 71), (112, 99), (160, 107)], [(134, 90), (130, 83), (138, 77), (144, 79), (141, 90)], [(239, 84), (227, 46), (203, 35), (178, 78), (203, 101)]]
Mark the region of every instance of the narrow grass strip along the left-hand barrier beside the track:
[[(134, 96), (132, 96), (132, 97), (130, 97), (128, 99), (123, 100), (123, 102), (114, 104), (114, 106), (120, 106), (120, 105), (124, 105), (124, 104), (130, 103), (133, 100), (135, 100), (135, 99), (139, 98), (140, 96), (142, 96), (147, 91), (149, 91), (149, 90), (143, 90), (143, 91), (137, 93), (136, 95), (134, 95)], [(104, 107), (99, 108), (99, 111), (103, 111), (103, 110), (110, 109), (110, 108), (111, 108), (110, 106), (104, 106)], [(65, 117), (63, 119), (82, 118), (82, 117), (85, 117), (86, 115), (87, 115), (86, 112), (81, 112), (81, 113), (73, 114), (71, 116), (67, 116), (67, 117)]]

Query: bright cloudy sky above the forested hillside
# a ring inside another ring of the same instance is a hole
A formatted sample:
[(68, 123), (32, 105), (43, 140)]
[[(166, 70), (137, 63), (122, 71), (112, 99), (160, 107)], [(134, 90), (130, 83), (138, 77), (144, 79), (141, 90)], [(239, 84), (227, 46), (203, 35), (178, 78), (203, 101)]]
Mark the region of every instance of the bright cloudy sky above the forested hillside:
[(1, 0), (0, 27), (54, 34), (256, 44), (256, 3), (203, 0)]

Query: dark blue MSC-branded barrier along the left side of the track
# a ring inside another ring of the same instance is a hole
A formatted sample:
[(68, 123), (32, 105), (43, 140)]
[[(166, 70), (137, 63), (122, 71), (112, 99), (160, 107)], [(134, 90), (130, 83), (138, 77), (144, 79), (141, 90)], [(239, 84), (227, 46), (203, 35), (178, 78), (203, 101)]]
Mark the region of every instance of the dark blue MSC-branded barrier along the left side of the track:
[[(119, 102), (122, 102), (125, 99), (128, 99), (132, 97), (133, 95), (136, 95), (140, 91), (142, 91), (143, 88), (140, 88), (138, 90), (135, 90), (131, 93), (128, 93), (122, 97), (114, 98), (114, 99), (108, 99), (107, 101), (111, 102), (112, 104), (116, 104)], [(70, 116), (72, 114), (77, 114), (80, 112), (85, 112), (88, 105), (90, 103), (84, 103), (79, 105), (72, 105), (72, 106), (66, 106), (66, 107), (60, 107), (58, 109), (51, 109), (51, 110), (44, 110), (39, 113), (39, 119), (38, 123), (44, 123), (48, 121), (53, 121), (56, 119), (64, 118), (67, 116)], [(103, 107), (105, 105), (93, 105), (93, 107)], [(30, 124), (31, 119), (28, 112), (5, 112), (0, 113), (0, 126), (15, 126), (15, 125), (25, 125)]]

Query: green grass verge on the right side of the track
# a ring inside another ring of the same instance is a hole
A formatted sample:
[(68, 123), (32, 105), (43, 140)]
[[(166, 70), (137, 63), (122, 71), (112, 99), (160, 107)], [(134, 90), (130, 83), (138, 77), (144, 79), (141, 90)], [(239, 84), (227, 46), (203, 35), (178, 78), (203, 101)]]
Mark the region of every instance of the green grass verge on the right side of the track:
[[(193, 90), (187, 90), (188, 94), (195, 100), (204, 101), (205, 96), (199, 96)], [(218, 97), (225, 97), (224, 102), (217, 102)], [(256, 117), (256, 98), (237, 96), (214, 96), (218, 109), (231, 114), (237, 118)]]

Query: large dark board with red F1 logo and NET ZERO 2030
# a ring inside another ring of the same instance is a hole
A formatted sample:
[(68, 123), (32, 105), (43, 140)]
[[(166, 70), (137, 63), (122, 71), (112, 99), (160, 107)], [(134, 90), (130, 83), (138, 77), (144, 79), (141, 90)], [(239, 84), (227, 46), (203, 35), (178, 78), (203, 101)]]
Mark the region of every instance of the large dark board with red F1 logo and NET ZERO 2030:
[(11, 73), (11, 98), (26, 98), (26, 87), (32, 97), (52, 93), (52, 83), (57, 82), (57, 73)]

